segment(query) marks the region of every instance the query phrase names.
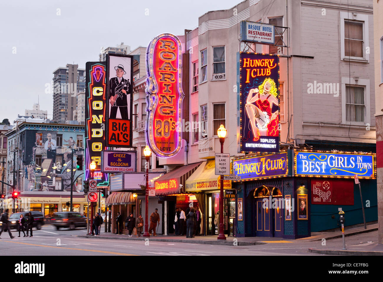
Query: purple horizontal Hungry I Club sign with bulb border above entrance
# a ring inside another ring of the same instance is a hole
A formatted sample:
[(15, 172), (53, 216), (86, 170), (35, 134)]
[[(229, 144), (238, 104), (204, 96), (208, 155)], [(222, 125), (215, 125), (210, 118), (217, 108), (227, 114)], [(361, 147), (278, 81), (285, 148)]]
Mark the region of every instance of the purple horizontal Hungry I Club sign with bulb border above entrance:
[(286, 176), (287, 166), (287, 152), (233, 160), (233, 172), (241, 181)]

